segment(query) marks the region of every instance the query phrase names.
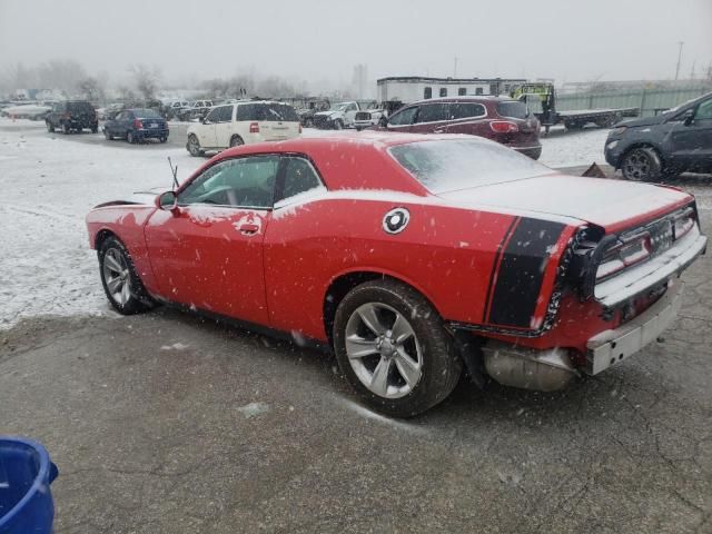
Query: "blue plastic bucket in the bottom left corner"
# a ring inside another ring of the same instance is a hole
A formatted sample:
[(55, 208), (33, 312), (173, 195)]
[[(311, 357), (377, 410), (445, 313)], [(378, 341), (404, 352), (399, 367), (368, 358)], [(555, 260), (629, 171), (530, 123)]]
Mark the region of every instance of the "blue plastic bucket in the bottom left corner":
[(42, 445), (0, 436), (0, 534), (51, 534), (57, 474)]

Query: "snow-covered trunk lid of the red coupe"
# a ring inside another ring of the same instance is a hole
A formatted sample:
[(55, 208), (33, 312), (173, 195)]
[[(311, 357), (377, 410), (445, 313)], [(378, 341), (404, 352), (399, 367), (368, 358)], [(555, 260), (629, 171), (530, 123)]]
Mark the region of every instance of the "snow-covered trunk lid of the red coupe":
[(692, 200), (690, 195), (668, 187), (560, 174), (438, 196), (465, 208), (491, 207), (532, 217), (567, 217), (607, 231), (617, 231)]

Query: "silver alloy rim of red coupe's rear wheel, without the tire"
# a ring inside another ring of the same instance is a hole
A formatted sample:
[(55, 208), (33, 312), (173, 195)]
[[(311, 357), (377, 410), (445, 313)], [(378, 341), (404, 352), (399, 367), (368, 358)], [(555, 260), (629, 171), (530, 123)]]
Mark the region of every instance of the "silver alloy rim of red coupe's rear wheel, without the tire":
[(346, 324), (346, 355), (358, 379), (384, 398), (404, 397), (423, 375), (421, 344), (396, 309), (367, 303)]

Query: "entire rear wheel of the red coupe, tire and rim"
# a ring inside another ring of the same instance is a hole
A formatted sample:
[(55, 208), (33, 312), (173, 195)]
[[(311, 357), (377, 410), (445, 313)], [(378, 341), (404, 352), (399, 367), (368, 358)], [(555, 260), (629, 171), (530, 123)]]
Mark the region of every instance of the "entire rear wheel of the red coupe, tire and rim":
[(374, 280), (352, 289), (334, 319), (334, 350), (362, 399), (395, 417), (443, 402), (462, 360), (435, 308), (415, 289)]

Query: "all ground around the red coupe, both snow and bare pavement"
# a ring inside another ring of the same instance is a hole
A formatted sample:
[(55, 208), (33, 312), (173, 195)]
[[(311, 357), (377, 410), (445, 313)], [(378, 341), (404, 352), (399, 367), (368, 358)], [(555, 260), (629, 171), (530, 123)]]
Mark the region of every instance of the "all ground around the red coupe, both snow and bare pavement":
[[(91, 137), (0, 122), (2, 432), (58, 464), (57, 534), (712, 532), (709, 256), (665, 342), (599, 377), (556, 394), (463, 383), (393, 421), (355, 404), (327, 355), (109, 312), (86, 210), (168, 186), (165, 156), (181, 176), (201, 160)], [(604, 137), (552, 135), (544, 160), (587, 164)], [(708, 180), (678, 184), (706, 229)]]

